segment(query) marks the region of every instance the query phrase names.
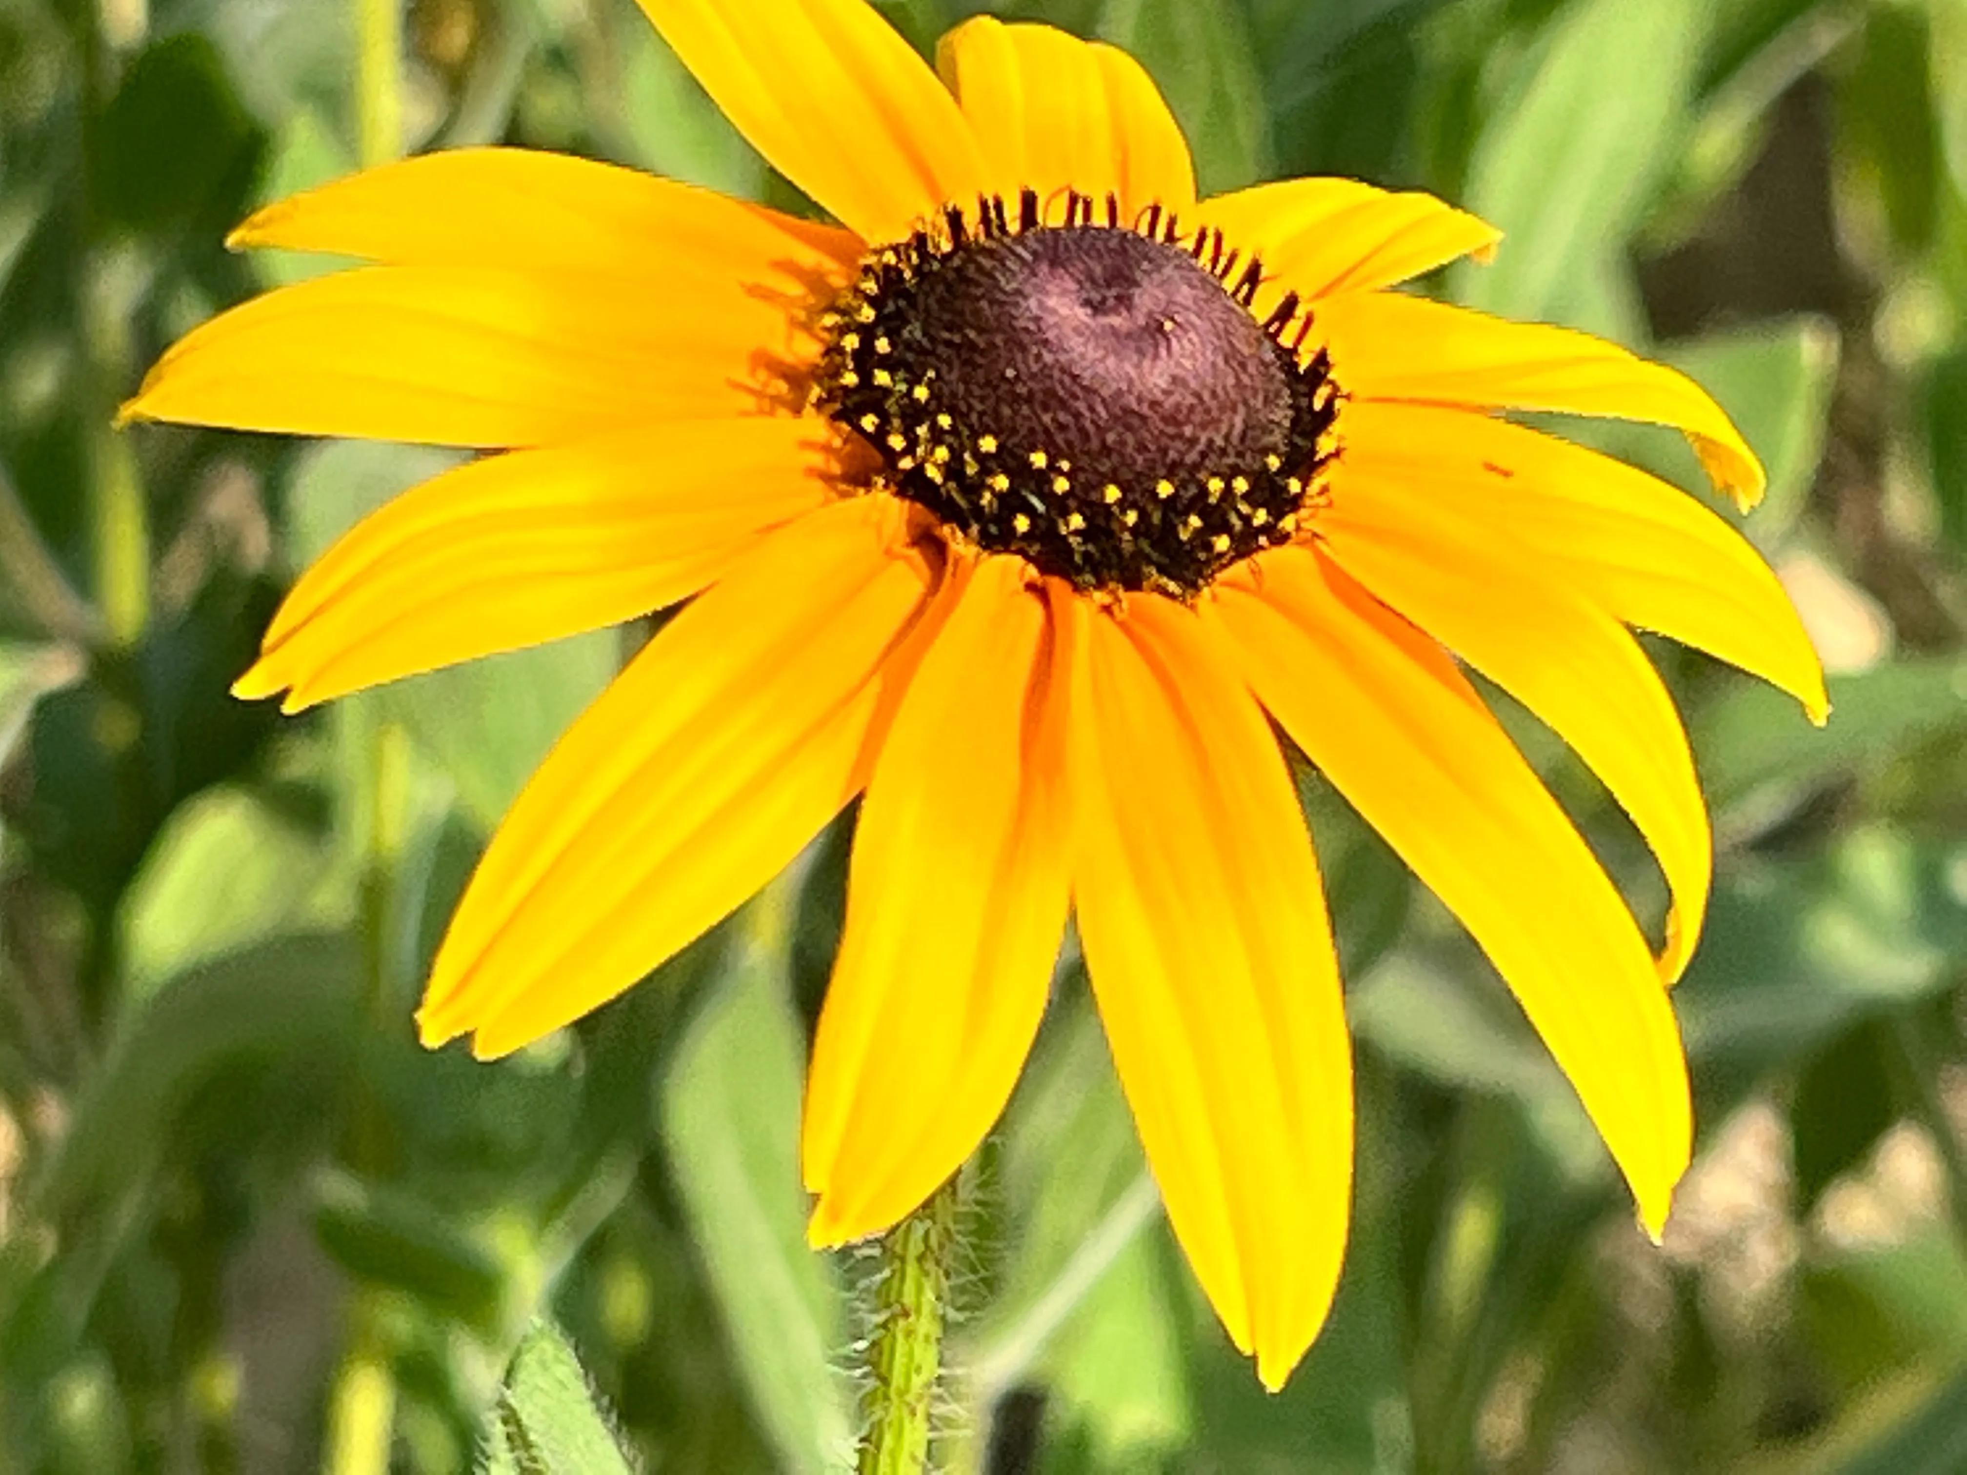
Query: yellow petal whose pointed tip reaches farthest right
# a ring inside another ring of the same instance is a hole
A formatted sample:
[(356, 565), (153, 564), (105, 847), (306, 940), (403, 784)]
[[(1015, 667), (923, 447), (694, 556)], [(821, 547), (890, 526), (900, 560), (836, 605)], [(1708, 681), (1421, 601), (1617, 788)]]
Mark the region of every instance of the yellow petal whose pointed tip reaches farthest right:
[[(1676, 486), (1491, 415), (1349, 403), (1338, 470), (1408, 515), (1465, 511), (1629, 625), (1707, 651), (1790, 692), (1814, 722), (1829, 702), (1804, 621), (1755, 547)], [(1389, 507), (1389, 515), (1393, 515)]]

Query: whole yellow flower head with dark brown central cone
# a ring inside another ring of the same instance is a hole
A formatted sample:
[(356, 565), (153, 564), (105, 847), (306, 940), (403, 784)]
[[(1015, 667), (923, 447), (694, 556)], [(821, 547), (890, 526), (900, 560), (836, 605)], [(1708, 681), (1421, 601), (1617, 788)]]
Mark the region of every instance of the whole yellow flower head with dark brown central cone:
[[(1613, 344), (1389, 291), (1495, 246), (1426, 195), (1196, 201), (1111, 47), (984, 18), (938, 81), (862, 0), (641, 4), (840, 226), (545, 153), (409, 159), (246, 222), (368, 266), (205, 324), (128, 407), (500, 452), (330, 549), (242, 696), (297, 710), (688, 602), (494, 838), (425, 1042), (498, 1056), (584, 1015), (865, 793), (814, 1243), (976, 1149), (1070, 911), (1174, 1233), (1279, 1386), (1340, 1274), (1351, 1060), (1275, 720), (1467, 924), (1658, 1233), (1709, 836), (1627, 625), (1818, 718), (1823, 684), (1719, 517), (1497, 411), (1678, 427), (1747, 505), (1727, 417)], [(1633, 816), (1664, 956), (1456, 657)]]

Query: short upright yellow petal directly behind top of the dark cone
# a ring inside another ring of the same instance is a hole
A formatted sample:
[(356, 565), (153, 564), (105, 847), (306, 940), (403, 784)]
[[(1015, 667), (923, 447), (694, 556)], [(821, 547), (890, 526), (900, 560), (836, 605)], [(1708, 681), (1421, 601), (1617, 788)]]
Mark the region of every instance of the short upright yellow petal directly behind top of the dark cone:
[(1127, 224), (1149, 205), (1194, 206), (1188, 142), (1125, 51), (978, 16), (942, 37), (936, 65), (984, 148), (991, 189), (1007, 199), (1035, 189), (1054, 222), (1066, 191), (1090, 197), (1100, 220), (1113, 195)]

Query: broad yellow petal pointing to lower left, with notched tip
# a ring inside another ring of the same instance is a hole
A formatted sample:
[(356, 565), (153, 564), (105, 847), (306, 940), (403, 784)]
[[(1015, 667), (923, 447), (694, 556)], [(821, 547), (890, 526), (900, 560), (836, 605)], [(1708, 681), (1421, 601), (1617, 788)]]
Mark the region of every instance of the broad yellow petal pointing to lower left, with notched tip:
[(773, 533), (566, 732), (439, 948), (425, 1044), (500, 1056), (598, 1009), (757, 891), (860, 791), (930, 574), (889, 498)]

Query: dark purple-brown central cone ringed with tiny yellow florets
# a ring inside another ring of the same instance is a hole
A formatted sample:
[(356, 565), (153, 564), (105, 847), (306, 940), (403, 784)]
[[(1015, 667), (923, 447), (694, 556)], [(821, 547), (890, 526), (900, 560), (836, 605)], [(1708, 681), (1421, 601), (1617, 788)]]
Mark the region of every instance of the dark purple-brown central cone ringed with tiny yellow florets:
[[(1222, 232), (1025, 191), (881, 246), (822, 315), (818, 409), (877, 454), (875, 484), (985, 553), (1080, 590), (1192, 600), (1292, 541), (1330, 458), (1338, 387), (1310, 315)], [(1198, 285), (1206, 283), (1206, 287)]]

